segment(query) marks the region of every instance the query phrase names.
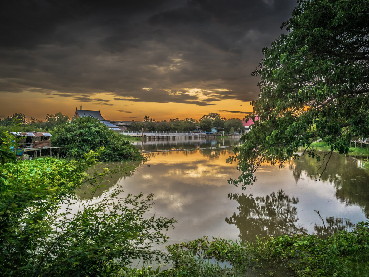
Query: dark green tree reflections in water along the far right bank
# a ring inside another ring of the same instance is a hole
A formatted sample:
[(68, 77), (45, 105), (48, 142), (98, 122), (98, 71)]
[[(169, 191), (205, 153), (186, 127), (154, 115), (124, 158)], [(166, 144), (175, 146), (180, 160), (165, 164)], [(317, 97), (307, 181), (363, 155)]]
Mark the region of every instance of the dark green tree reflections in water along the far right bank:
[[(302, 173), (315, 180), (320, 173), (320, 165), (316, 160), (301, 156), (300, 160), (290, 162), (290, 170), (297, 182)], [(358, 160), (354, 157), (333, 153), (321, 181), (330, 182), (336, 188), (335, 196), (348, 205), (359, 205), (369, 218), (369, 172), (358, 168)]]

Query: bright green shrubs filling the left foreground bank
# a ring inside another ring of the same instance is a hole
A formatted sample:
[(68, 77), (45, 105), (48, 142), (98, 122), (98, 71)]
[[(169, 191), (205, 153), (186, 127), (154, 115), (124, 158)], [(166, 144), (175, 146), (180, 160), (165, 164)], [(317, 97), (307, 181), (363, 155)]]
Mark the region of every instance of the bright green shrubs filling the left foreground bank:
[[(103, 178), (116, 172), (87, 176), (94, 163), (90, 152), (80, 161), (39, 158), (1, 166), (1, 276), (116, 276), (135, 259), (165, 260), (151, 246), (166, 241), (162, 231), (175, 220), (144, 218), (152, 195), (122, 198), (118, 187), (92, 202)], [(86, 182), (93, 193), (80, 202), (75, 188)], [(76, 204), (78, 212), (71, 213)]]

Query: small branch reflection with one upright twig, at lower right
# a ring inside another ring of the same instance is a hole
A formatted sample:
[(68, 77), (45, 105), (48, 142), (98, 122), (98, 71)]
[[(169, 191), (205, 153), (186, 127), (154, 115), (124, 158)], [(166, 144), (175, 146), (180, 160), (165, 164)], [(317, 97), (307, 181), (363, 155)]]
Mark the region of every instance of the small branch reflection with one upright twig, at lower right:
[(320, 220), (322, 221), (322, 225), (317, 223), (314, 224), (315, 235), (318, 237), (328, 237), (332, 236), (334, 233), (343, 230), (350, 230), (356, 227), (356, 224), (351, 223), (348, 219), (343, 218), (336, 218), (334, 216), (327, 216), (325, 218), (325, 222), (321, 217), (319, 211), (315, 211), (318, 215)]

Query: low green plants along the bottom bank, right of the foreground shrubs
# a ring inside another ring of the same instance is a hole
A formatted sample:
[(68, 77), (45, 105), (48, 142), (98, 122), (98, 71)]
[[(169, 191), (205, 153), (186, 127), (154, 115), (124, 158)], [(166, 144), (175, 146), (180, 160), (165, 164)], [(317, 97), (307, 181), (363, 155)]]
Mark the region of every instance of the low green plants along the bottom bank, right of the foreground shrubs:
[[(173, 267), (124, 269), (122, 276), (369, 276), (369, 222), (331, 237), (278, 236), (255, 244), (207, 237), (167, 247)], [(288, 275), (287, 275), (288, 274)]]

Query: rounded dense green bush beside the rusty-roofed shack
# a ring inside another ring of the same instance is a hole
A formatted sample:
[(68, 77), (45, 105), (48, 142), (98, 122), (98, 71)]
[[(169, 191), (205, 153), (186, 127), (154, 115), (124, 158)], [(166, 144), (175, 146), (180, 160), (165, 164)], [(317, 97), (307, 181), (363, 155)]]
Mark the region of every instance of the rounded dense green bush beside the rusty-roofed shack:
[(89, 151), (105, 147), (100, 161), (143, 160), (130, 140), (111, 131), (99, 119), (83, 116), (58, 125), (52, 131), (52, 145), (66, 148), (67, 157), (79, 159)]

